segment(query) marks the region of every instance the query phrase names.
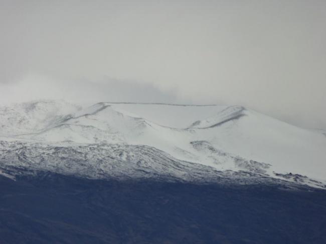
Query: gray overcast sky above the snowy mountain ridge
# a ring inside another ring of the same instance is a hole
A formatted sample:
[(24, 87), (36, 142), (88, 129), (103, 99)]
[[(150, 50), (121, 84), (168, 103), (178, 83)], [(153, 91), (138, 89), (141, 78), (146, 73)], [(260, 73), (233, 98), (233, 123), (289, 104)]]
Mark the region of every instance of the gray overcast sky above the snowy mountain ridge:
[(326, 129), (326, 1), (0, 0), (0, 103), (240, 104)]

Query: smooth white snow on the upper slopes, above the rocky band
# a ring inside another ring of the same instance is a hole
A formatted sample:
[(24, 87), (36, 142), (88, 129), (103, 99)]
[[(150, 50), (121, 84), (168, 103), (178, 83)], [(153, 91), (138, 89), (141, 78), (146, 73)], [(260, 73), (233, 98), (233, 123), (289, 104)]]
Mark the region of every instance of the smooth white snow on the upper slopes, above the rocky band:
[(216, 170), (326, 180), (323, 133), (241, 106), (98, 103), (80, 109), (40, 101), (1, 107), (0, 136), (8, 142), (145, 145)]

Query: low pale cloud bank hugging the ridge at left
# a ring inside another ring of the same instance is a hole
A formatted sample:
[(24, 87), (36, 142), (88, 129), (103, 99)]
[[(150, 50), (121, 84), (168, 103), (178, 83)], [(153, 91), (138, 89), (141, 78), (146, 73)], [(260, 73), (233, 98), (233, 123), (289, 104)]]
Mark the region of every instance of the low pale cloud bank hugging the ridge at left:
[(151, 84), (103, 78), (99, 81), (58, 80), (40, 75), (30, 75), (15, 83), (0, 84), (1, 104), (11, 104), (42, 99), (63, 99), (91, 105), (97, 102), (160, 102), (191, 103), (182, 100), (174, 91), (161, 91)]

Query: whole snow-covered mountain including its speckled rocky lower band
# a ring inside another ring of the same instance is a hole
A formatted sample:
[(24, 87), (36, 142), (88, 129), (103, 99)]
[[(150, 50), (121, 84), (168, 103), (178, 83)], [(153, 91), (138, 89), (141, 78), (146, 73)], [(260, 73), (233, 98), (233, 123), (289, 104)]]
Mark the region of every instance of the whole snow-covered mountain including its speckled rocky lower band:
[[(64, 101), (0, 107), (0, 174), (325, 187), (326, 137), (241, 106)], [(326, 187), (325, 187), (326, 188)]]

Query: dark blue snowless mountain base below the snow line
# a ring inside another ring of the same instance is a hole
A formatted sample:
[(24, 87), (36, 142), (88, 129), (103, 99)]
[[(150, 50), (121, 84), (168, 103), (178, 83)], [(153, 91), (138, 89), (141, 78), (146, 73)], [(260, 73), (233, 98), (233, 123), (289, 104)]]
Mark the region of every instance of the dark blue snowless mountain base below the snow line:
[(0, 243), (326, 243), (326, 191), (0, 177)]

